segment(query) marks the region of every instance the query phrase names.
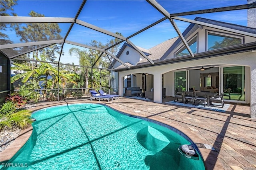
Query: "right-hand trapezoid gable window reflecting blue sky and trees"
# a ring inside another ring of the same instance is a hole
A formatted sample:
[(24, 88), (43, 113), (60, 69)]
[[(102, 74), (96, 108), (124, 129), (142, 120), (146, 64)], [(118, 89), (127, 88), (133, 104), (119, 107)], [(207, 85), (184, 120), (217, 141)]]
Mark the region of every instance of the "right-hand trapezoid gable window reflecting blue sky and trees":
[(226, 34), (207, 33), (207, 51), (242, 44), (242, 37)]

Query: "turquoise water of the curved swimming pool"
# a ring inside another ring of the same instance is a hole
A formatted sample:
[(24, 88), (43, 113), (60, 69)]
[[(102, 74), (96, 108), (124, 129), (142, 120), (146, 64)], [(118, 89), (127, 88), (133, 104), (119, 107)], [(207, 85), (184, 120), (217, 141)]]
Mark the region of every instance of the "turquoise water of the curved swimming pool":
[(23, 167), (8, 169), (205, 169), (201, 158), (179, 153), (180, 145), (190, 143), (174, 131), (100, 104), (48, 107), (32, 117), (30, 139), (10, 160)]

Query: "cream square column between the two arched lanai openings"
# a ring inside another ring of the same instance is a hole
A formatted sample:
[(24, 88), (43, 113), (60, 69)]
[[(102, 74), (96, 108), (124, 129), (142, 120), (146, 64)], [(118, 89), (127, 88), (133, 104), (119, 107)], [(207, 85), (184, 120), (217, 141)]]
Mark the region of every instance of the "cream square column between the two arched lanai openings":
[(154, 102), (162, 103), (163, 94), (162, 94), (162, 74), (154, 74)]

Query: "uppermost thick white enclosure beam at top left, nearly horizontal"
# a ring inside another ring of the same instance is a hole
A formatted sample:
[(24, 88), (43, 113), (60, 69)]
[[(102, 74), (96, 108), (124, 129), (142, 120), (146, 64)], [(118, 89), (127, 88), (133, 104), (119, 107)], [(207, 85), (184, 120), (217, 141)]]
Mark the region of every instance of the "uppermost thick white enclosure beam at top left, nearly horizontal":
[(74, 23), (74, 18), (1, 16), (1, 23)]

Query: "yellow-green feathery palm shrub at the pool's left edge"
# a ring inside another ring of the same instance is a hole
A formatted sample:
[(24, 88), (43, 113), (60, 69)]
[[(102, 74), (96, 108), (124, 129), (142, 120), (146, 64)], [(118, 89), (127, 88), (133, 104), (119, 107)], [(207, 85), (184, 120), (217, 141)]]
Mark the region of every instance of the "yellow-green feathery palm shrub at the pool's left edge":
[(32, 123), (31, 111), (20, 110), (17, 111), (14, 102), (6, 102), (0, 109), (0, 129), (3, 127), (12, 127), (17, 125), (19, 128), (24, 129)]

